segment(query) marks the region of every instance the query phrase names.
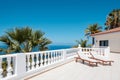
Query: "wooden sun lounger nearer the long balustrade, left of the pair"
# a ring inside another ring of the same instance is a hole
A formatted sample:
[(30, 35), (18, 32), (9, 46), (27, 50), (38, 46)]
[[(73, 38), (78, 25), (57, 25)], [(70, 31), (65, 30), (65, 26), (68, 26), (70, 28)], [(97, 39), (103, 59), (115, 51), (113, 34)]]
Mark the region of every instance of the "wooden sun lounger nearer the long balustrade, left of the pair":
[(77, 62), (78, 61), (78, 59), (79, 60), (81, 60), (83, 63), (84, 62), (88, 62), (88, 64), (90, 65), (90, 66), (94, 66), (94, 65), (96, 65), (97, 66), (97, 64), (99, 63), (97, 60), (94, 60), (94, 59), (90, 59), (88, 56), (86, 56), (84, 53), (77, 53), (77, 55), (78, 55), (78, 57), (75, 57), (75, 61)]

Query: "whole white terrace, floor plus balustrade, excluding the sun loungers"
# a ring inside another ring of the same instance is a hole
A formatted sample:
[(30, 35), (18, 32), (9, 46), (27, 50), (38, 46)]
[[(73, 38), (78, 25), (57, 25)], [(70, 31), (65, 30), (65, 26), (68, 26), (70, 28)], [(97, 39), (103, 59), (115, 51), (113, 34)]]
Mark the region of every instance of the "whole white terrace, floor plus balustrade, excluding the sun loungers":
[[(76, 52), (98, 55), (114, 60), (112, 66), (75, 62)], [(7, 67), (3, 68), (3, 63)], [(120, 80), (120, 54), (110, 53), (109, 48), (71, 48), (34, 53), (0, 56), (0, 80)]]

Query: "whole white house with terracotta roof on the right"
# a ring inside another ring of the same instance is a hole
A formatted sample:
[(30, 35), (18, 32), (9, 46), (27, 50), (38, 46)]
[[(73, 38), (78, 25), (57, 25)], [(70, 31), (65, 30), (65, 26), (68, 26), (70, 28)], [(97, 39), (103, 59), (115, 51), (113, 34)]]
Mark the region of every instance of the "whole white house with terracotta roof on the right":
[(120, 27), (91, 35), (95, 47), (109, 46), (111, 52), (120, 52)]

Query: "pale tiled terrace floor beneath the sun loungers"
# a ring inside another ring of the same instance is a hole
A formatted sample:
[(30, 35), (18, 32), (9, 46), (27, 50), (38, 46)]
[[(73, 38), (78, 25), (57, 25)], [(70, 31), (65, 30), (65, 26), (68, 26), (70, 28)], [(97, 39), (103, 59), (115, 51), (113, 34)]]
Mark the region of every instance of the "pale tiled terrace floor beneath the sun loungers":
[(120, 53), (111, 53), (112, 66), (90, 67), (72, 61), (27, 80), (120, 80)]

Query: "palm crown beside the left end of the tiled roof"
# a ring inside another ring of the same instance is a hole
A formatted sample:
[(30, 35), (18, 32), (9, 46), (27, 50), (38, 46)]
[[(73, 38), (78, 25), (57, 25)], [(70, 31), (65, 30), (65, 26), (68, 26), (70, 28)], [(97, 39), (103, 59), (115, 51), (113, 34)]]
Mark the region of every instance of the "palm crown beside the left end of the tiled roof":
[(91, 34), (95, 34), (98, 32), (101, 32), (102, 27), (98, 26), (98, 24), (93, 24), (88, 26), (88, 28), (85, 30), (85, 36), (89, 38)]

